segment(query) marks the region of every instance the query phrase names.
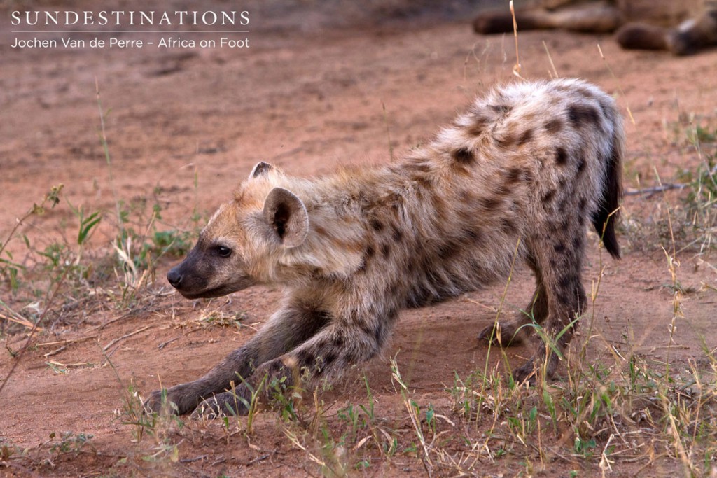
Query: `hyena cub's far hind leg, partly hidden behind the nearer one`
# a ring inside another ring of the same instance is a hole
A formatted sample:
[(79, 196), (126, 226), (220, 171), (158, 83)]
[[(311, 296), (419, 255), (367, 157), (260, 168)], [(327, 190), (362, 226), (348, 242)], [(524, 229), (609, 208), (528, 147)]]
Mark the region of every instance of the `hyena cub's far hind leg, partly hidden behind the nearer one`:
[(548, 317), (548, 297), (543, 285), (542, 272), (536, 264), (536, 259), (531, 255), (528, 255), (526, 262), (533, 269), (536, 278), (536, 290), (533, 292), (531, 302), (528, 302), (525, 310), (518, 311), (513, 319), (494, 322), (481, 330), (478, 340), (489, 340), (504, 347), (515, 345), (521, 343), (523, 337), (530, 332), (526, 330), (527, 326), (533, 323), (541, 324)]

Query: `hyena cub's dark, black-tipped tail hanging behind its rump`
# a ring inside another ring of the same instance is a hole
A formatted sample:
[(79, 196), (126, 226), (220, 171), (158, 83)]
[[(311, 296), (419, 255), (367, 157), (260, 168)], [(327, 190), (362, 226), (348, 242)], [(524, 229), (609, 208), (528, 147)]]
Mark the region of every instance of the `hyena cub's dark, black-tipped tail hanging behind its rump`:
[(592, 214), (592, 225), (602, 243), (615, 259), (620, 258), (620, 246), (615, 236), (615, 223), (619, 218), (619, 203), (622, 198), (622, 158), (625, 156), (625, 133), (618, 124), (612, 135), (610, 153), (606, 158), (605, 180), (602, 186), (600, 206)]

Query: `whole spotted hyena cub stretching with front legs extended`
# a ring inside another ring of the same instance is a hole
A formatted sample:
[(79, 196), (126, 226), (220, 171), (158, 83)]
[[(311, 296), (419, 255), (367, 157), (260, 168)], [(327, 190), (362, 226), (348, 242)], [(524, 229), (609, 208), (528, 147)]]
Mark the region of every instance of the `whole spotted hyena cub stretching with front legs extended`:
[[(623, 154), (614, 101), (586, 82), (554, 80), (490, 92), (397, 163), (315, 179), (257, 164), (167, 279), (189, 299), (282, 285), (282, 305), (206, 375), (169, 388), (168, 401), (179, 414), (246, 413), (237, 397), (250, 398), (265, 376), (290, 386), (369, 360), (400, 310), (505, 279), (516, 248), (536, 277), (530, 317), (480, 338), (507, 345), (535, 320), (553, 337), (566, 330), (564, 350), (586, 304), (586, 221), (619, 257)], [(513, 373), (549, 377), (557, 364), (539, 345)], [(161, 395), (148, 407), (161, 408)]]

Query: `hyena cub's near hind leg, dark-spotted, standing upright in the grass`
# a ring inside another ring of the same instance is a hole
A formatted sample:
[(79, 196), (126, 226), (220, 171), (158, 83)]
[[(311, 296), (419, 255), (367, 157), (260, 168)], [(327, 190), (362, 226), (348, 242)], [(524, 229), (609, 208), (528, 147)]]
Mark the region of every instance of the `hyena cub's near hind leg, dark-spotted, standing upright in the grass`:
[[(584, 254), (584, 231), (578, 221), (569, 221), (573, 227), (552, 234), (541, 234), (531, 241), (530, 249), (536, 259), (536, 267), (543, 279), (546, 299), (546, 318), (543, 323), (543, 338), (536, 352), (526, 363), (513, 371), (517, 381), (526, 379), (535, 383), (538, 373), (545, 366), (545, 378), (550, 378), (558, 366), (559, 353), (564, 353), (574, 333), (576, 323), (586, 302), (585, 289), (581, 281), (582, 257)], [(547, 361), (546, 361), (547, 360)]]

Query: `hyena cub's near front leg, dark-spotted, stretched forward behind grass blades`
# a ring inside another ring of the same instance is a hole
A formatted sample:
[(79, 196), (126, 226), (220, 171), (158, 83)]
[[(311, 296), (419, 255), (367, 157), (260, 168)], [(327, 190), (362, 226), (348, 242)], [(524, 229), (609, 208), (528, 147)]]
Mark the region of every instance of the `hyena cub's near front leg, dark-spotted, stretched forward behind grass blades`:
[(194, 411), (194, 416), (215, 418), (222, 414), (247, 414), (244, 401), (249, 403), (252, 389), (265, 383), (262, 401), (270, 403), (280, 390), (300, 385), (302, 378), (318, 383), (334, 371), (341, 371), (353, 363), (362, 363), (379, 353), (389, 336), (394, 322), (391, 317), (371, 317), (351, 321), (334, 320), (320, 332), (297, 348), (273, 360), (263, 363), (244, 383), (232, 391), (217, 393), (206, 398)]

